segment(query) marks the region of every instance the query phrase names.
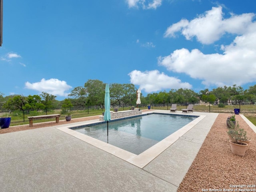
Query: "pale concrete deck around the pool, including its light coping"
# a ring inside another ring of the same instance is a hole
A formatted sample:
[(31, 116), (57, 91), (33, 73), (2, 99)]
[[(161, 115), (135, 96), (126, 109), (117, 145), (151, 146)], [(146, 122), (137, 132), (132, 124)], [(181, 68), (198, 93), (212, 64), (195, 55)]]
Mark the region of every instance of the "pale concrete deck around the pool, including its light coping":
[(201, 116), (200, 120), (184, 128), (182, 135), (164, 141), (161, 152), (157, 146), (139, 157), (109, 144), (98, 145), (67, 129), (88, 122), (0, 134), (1, 190), (175, 192), (218, 116), (202, 112), (183, 115), (191, 114)]

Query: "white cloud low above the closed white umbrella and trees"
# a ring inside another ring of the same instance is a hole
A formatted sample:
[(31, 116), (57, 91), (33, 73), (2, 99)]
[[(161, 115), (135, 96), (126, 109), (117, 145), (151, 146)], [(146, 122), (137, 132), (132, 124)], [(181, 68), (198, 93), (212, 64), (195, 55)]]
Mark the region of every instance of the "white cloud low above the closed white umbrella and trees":
[(128, 74), (132, 84), (139, 85), (145, 92), (156, 92), (163, 89), (192, 88), (187, 82), (181, 82), (180, 79), (169, 77), (158, 70), (141, 72), (133, 70)]

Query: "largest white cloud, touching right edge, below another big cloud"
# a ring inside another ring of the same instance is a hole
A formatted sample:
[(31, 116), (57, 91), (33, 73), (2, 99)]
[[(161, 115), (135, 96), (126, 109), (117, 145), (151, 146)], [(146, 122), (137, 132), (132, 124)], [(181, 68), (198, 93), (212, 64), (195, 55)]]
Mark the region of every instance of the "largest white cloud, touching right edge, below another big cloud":
[(237, 36), (228, 45), (222, 45), (223, 54), (203, 54), (200, 50), (185, 48), (169, 56), (159, 57), (158, 64), (168, 70), (186, 73), (201, 79), (206, 86), (242, 85), (256, 81), (256, 23), (246, 27), (247, 32)]

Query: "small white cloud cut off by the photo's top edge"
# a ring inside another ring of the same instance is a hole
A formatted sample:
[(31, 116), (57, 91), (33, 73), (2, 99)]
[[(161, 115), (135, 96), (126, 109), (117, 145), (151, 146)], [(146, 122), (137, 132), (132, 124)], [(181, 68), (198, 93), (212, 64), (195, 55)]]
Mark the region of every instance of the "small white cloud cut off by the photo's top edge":
[(162, 0), (126, 0), (129, 8), (138, 8), (141, 6), (143, 9), (156, 9), (162, 4)]

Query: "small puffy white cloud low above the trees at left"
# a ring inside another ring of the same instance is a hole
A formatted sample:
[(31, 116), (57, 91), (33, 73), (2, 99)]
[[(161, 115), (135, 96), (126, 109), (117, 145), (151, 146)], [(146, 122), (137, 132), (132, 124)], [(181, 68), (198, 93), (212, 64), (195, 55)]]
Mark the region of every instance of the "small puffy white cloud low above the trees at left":
[(37, 90), (39, 92), (47, 92), (48, 94), (55, 96), (68, 96), (66, 91), (72, 87), (65, 81), (52, 78), (49, 80), (42, 79), (40, 82), (35, 83), (26, 82), (25, 88)]

